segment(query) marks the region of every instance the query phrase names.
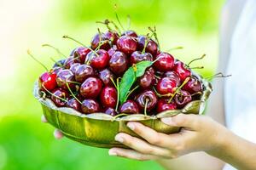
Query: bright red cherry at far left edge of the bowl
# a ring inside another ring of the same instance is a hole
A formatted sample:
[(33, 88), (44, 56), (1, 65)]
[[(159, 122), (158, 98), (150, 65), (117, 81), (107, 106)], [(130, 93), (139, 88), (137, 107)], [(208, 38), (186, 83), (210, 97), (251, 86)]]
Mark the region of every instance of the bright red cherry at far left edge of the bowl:
[[(55, 73), (44, 72), (38, 78), (39, 88), (43, 91), (52, 91), (57, 87), (56, 77)], [(44, 88), (46, 88), (46, 90)]]

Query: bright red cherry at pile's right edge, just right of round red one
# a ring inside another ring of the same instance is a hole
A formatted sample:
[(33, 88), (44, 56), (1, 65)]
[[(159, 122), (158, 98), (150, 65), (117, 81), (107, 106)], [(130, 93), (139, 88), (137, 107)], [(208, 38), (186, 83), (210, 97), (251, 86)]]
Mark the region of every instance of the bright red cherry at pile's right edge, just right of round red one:
[(177, 73), (181, 81), (184, 81), (187, 77), (191, 77), (191, 71), (186, 68), (186, 65), (181, 61), (175, 62), (173, 71)]

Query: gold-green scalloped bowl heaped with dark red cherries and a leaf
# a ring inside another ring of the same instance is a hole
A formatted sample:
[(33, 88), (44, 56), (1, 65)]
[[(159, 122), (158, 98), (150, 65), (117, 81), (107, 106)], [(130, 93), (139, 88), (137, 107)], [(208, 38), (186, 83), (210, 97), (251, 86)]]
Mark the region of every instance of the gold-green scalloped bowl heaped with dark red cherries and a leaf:
[(202, 114), (210, 82), (161, 51), (154, 28), (143, 36), (121, 32), (109, 20), (103, 24), (108, 31), (98, 30), (88, 46), (79, 42), (67, 58), (38, 77), (34, 96), (51, 125), (82, 144), (125, 147), (114, 136), (137, 136), (126, 127), (129, 121), (177, 133), (180, 127), (167, 126), (160, 118)]

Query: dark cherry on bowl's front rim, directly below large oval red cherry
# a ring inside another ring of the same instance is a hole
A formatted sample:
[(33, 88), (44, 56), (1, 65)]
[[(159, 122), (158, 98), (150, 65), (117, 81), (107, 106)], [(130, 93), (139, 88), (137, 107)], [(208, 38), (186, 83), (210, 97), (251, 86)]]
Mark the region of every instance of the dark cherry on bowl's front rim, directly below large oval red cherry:
[(81, 110), (84, 114), (96, 113), (100, 111), (100, 105), (95, 99), (84, 99), (81, 105)]

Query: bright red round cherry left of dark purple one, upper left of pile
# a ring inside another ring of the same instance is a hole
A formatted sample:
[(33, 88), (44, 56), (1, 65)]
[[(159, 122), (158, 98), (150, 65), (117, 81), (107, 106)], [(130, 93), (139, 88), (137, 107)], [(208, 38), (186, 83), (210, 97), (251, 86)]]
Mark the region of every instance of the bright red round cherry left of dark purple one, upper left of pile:
[(97, 50), (96, 53), (90, 52), (87, 55), (87, 57), (90, 58), (90, 65), (93, 68), (99, 69), (99, 70), (104, 69), (108, 65), (108, 61), (110, 59), (108, 52), (103, 49)]

